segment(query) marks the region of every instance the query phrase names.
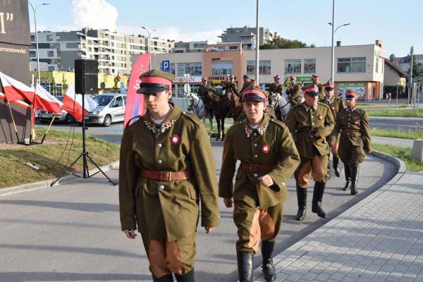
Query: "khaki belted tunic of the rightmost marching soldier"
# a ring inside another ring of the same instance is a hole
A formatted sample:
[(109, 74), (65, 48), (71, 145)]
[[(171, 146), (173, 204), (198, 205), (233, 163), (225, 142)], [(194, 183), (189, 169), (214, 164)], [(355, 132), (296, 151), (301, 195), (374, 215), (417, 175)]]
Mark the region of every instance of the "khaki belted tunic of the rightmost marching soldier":
[(344, 164), (358, 166), (364, 161), (364, 150), (372, 149), (370, 138), (369, 114), (355, 108), (348, 111), (342, 109), (336, 115), (336, 125), (331, 133), (332, 140), (341, 133), (339, 141), (339, 157)]

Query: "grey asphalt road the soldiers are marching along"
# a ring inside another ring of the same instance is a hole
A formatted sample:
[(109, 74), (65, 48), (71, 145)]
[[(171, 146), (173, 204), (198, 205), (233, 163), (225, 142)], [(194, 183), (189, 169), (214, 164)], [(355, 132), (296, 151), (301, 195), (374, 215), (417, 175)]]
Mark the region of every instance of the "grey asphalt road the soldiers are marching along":
[[(94, 131), (94, 130), (93, 130)], [(104, 134), (104, 133), (102, 133)], [(104, 136), (109, 136), (105, 134)], [(109, 136), (110, 137), (110, 136)], [(212, 142), (216, 167), (222, 142)], [(219, 177), (219, 169), (216, 171)], [(341, 178), (329, 180), (323, 199), (327, 219), (310, 212), (295, 221), (297, 200), (288, 182), (281, 233), (275, 253), (286, 249), (345, 209), (380, 188), (396, 173), (393, 164), (367, 157), (361, 166), (359, 194), (343, 192)], [(107, 174), (118, 180), (118, 171)], [(198, 228), (197, 281), (236, 281), (236, 230), (232, 209), (221, 202), (221, 226), (206, 235)], [(0, 197), (0, 281), (151, 281), (142, 242), (128, 240), (120, 230), (118, 190), (101, 175), (68, 185)], [(256, 256), (255, 267), (260, 265)]]

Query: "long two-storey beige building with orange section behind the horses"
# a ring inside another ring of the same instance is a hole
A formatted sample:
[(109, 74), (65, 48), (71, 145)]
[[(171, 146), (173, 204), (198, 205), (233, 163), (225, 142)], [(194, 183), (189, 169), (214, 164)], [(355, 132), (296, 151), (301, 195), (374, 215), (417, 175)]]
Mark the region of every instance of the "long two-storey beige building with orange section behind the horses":
[[(255, 51), (244, 50), (242, 44), (212, 44), (197, 53), (156, 54), (153, 68), (160, 69), (164, 61), (169, 62), (171, 73), (176, 75), (174, 93), (178, 97), (183, 96), (185, 74), (190, 75), (192, 92), (202, 77), (207, 77), (219, 90), (228, 74), (235, 75), (240, 88), (244, 74), (255, 76)], [(379, 40), (376, 44), (335, 47), (337, 94), (342, 96), (351, 89), (360, 94), (360, 99), (381, 99), (385, 57)], [(319, 75), (321, 83), (326, 83), (331, 78), (331, 47), (260, 50), (260, 85), (269, 87), (274, 75), (281, 75), (284, 80), (295, 75), (300, 83), (311, 82), (312, 75)]]

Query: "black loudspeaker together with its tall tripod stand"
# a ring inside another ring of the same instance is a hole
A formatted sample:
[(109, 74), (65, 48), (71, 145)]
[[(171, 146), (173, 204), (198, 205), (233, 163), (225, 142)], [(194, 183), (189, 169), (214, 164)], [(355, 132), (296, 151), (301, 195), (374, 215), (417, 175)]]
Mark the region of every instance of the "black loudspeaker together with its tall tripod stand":
[[(82, 158), (82, 177), (78, 176), (78, 174), (71, 173), (74, 176), (79, 178), (90, 178), (91, 176), (96, 175), (97, 173), (103, 173), (103, 175), (109, 180), (109, 182), (113, 185), (116, 185), (113, 180), (109, 178), (109, 176), (102, 171), (100, 168), (90, 157), (88, 154), (87, 149), (85, 147), (85, 97), (84, 95), (94, 94), (97, 93), (98, 90), (98, 73), (99, 73), (99, 62), (96, 60), (88, 60), (88, 59), (75, 59), (75, 93), (82, 94), (82, 152), (75, 161), (68, 166), (68, 168), (63, 169), (61, 174), (59, 175), (56, 180), (54, 180), (50, 186), (53, 186), (65, 173), (66, 171), (71, 171), (76, 162)], [(96, 173), (92, 173), (90, 175), (90, 171), (88, 170), (87, 159), (94, 164), (98, 168), (99, 171)]]

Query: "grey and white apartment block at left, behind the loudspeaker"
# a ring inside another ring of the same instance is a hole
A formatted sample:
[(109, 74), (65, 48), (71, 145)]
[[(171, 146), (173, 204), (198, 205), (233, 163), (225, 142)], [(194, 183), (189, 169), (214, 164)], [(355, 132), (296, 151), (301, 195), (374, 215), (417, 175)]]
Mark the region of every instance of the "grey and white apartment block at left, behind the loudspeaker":
[[(38, 32), (40, 71), (74, 71), (78, 58), (99, 61), (99, 73), (129, 75), (133, 56), (148, 51), (148, 37), (121, 35), (109, 30), (82, 28), (70, 32)], [(150, 52), (170, 53), (174, 42), (151, 38)], [(35, 32), (31, 32), (31, 71), (37, 70)]]

